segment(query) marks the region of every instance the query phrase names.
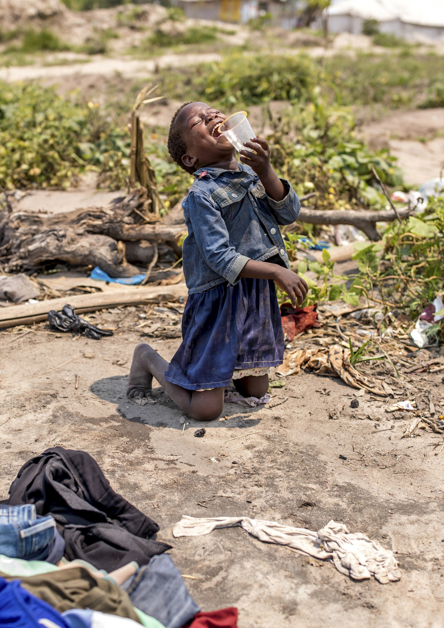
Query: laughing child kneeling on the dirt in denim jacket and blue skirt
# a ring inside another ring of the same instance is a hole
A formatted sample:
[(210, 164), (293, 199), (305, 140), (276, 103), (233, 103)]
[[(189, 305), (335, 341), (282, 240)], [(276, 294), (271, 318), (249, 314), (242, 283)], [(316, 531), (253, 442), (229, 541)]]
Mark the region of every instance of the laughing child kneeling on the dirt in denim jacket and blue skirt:
[(278, 225), (294, 222), (299, 199), (270, 165), (265, 139), (236, 151), (217, 127), (226, 119), (203, 102), (174, 114), (168, 150), (196, 177), (183, 202), (188, 237), (183, 271), (188, 301), (182, 344), (168, 363), (149, 345), (134, 350), (127, 395), (151, 394), (152, 377), (191, 418), (211, 421), (231, 379), (245, 397), (268, 390), (270, 367), (282, 364), (283, 332), (275, 284), (293, 306), (307, 284), (289, 269)]

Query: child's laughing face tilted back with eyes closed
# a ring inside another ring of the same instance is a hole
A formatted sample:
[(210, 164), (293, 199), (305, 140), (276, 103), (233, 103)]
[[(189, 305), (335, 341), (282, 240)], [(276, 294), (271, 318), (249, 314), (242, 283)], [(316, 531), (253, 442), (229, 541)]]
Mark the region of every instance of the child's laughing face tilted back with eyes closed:
[(224, 114), (204, 102), (191, 102), (179, 114), (182, 137), (187, 152), (184, 165), (194, 170), (221, 161), (230, 161), (235, 149), (216, 127), (226, 119)]

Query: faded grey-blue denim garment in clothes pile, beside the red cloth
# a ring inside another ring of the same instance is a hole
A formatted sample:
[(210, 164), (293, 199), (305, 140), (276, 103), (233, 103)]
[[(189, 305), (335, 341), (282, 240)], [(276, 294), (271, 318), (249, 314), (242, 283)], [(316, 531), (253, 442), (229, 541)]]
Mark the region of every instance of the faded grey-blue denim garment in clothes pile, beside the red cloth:
[(153, 556), (148, 565), (125, 580), (122, 588), (137, 609), (157, 619), (165, 628), (181, 628), (201, 610), (168, 554)]

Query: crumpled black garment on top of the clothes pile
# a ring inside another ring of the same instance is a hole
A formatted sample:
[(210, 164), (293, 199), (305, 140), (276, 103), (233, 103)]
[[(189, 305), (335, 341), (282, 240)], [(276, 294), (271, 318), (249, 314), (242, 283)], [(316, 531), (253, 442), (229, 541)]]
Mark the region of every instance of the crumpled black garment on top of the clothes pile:
[(171, 548), (150, 538), (157, 523), (115, 493), (86, 452), (53, 447), (31, 458), (3, 503), (35, 504), (38, 514), (51, 514), (65, 539), (65, 557), (98, 569), (113, 571), (132, 560), (146, 565)]

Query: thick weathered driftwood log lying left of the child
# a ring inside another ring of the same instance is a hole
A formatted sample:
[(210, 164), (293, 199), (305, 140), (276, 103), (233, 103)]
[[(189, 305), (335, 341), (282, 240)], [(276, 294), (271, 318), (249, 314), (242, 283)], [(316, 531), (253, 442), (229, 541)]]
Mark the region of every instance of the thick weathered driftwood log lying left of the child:
[[(146, 268), (157, 244), (159, 258), (174, 262), (181, 254), (176, 237), (183, 224), (149, 222), (139, 208), (146, 202), (144, 188), (116, 198), (107, 207), (87, 207), (66, 214), (13, 212), (0, 217), (0, 261), (8, 273), (32, 269), (54, 260), (73, 265), (99, 266), (112, 277), (130, 277)], [(175, 209), (175, 208), (174, 208)], [(128, 249), (128, 251), (127, 251)], [(162, 257), (163, 256), (163, 257)]]

